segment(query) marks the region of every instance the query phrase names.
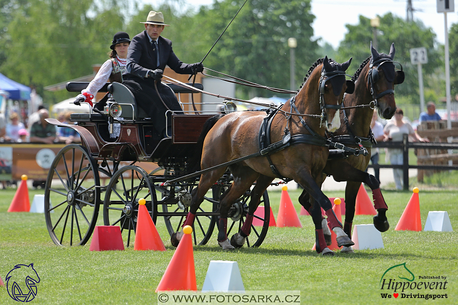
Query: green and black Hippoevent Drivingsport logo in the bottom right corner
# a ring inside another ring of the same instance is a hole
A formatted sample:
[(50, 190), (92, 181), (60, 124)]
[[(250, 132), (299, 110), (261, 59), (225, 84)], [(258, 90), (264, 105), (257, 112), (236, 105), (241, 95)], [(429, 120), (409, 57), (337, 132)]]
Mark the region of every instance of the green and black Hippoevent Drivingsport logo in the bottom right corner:
[(448, 298), (446, 293), (447, 277), (418, 276), (407, 268), (406, 263), (386, 269), (380, 279), (382, 298)]

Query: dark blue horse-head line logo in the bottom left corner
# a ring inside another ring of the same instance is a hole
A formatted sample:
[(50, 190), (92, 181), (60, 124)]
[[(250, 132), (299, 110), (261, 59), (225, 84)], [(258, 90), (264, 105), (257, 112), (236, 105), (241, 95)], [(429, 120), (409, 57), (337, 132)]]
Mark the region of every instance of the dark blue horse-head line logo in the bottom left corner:
[(8, 294), (19, 302), (30, 302), (37, 295), (40, 277), (34, 264), (16, 265), (6, 277)]

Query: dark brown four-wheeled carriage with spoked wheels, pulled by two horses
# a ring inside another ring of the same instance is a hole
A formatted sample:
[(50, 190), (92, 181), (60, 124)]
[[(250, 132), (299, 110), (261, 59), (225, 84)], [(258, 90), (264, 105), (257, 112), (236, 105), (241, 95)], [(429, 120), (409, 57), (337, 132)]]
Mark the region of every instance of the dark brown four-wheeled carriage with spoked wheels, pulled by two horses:
[[(66, 87), (70, 92), (80, 92), (87, 85), (69, 82)], [(189, 86), (168, 85), (177, 94), (195, 92)], [(191, 85), (203, 89), (202, 84)], [(55, 126), (76, 130), (81, 138), (81, 145), (69, 144), (59, 151), (47, 176), (45, 218), (52, 241), (61, 246), (84, 245), (96, 225), (110, 225), (121, 227), (123, 241), (129, 247), (134, 241), (140, 198), (146, 199), (152, 220), (156, 223), (158, 217), (163, 218), (168, 233), (174, 234), (181, 230), (191, 191), (199, 182), (198, 175), (180, 178), (188, 173), (197, 138), (205, 121), (214, 114), (172, 113), (171, 130), (167, 130), (166, 138), (161, 138), (123, 84), (107, 83), (99, 92), (111, 94), (104, 114), (92, 112), (92, 107), (90, 113), (71, 114), (75, 125), (47, 119)], [(116, 129), (119, 135), (112, 138)], [(150, 172), (143, 168), (152, 164), (157, 168)], [(207, 193), (196, 214), (192, 233), (195, 245), (205, 245), (212, 236), (215, 224), (218, 225), (220, 195), (232, 181), (227, 171)], [(249, 195), (247, 190), (231, 207), (228, 232), (237, 232), (242, 226)], [(267, 191), (260, 205), (264, 210), (256, 218), (262, 226), (251, 226), (254, 234), (247, 240), (249, 247), (259, 247), (267, 234)], [(98, 217), (100, 210), (103, 222)]]

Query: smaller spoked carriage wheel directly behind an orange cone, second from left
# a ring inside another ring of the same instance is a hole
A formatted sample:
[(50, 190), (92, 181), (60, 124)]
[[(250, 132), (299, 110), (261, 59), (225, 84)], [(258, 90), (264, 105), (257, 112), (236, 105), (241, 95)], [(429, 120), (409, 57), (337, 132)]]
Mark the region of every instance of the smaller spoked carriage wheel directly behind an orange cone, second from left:
[(146, 207), (156, 223), (156, 191), (147, 172), (128, 165), (113, 174), (103, 202), (103, 222), (105, 226), (121, 227), (125, 247), (132, 246), (135, 240), (140, 198), (145, 198)]

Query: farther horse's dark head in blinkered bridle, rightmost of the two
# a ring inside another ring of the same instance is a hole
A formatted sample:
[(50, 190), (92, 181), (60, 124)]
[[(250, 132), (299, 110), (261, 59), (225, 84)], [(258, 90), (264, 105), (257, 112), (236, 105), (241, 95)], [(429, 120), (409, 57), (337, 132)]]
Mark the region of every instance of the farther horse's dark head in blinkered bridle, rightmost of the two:
[[(394, 85), (404, 82), (404, 72), (394, 67), (394, 43), (391, 44), (390, 53), (379, 53), (370, 42), (371, 59), (366, 74), (366, 84), (373, 96), (379, 115), (385, 119), (393, 116), (396, 110), (394, 101)], [(400, 64), (399, 64), (400, 65)]]

